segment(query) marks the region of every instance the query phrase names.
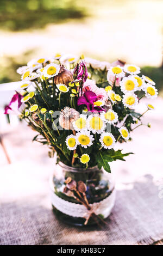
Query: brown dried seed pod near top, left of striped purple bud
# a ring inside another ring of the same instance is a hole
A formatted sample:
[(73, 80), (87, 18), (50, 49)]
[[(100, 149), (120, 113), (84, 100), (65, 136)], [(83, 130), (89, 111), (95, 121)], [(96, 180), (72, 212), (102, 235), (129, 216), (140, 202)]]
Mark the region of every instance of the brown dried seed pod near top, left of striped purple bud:
[(64, 65), (61, 65), (59, 74), (54, 77), (54, 83), (55, 84), (66, 84), (68, 86), (68, 83), (70, 83), (73, 80), (73, 76), (70, 70), (65, 69)]

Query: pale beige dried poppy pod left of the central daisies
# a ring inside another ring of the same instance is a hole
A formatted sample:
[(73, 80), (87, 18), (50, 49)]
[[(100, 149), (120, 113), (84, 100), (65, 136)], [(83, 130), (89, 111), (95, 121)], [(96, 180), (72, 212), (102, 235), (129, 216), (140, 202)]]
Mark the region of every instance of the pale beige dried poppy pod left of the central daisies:
[(73, 121), (76, 121), (78, 118), (79, 112), (76, 111), (76, 109), (64, 107), (64, 109), (61, 109), (60, 112), (59, 124), (64, 129), (74, 130), (72, 123)]

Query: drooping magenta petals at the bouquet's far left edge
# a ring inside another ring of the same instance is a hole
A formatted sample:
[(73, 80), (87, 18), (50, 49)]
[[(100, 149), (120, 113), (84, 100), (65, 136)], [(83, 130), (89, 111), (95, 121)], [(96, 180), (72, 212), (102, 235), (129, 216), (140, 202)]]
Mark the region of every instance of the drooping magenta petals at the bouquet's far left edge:
[(14, 96), (12, 96), (12, 99), (9, 103), (8, 106), (5, 106), (4, 108), (4, 114), (17, 114), (18, 113), (18, 108), (21, 107), (22, 105), (22, 102), (21, 102), (21, 99), (22, 99), (22, 95), (20, 93), (17, 93), (14, 94)]

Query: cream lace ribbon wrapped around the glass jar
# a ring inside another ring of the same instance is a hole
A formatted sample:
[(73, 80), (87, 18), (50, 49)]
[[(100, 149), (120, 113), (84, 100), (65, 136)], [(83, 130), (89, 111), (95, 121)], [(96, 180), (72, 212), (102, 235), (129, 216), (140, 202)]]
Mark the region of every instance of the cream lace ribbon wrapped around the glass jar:
[[(110, 196), (106, 197), (98, 203), (90, 204), (91, 211), (93, 210), (96, 215), (102, 214), (104, 218), (108, 217), (115, 203), (115, 193), (116, 192), (114, 189)], [(89, 210), (87, 210), (84, 205), (68, 202), (58, 197), (52, 189), (51, 202), (52, 205), (54, 205), (54, 207), (61, 211), (63, 214), (70, 215), (72, 217), (85, 217), (86, 215), (89, 215)]]

